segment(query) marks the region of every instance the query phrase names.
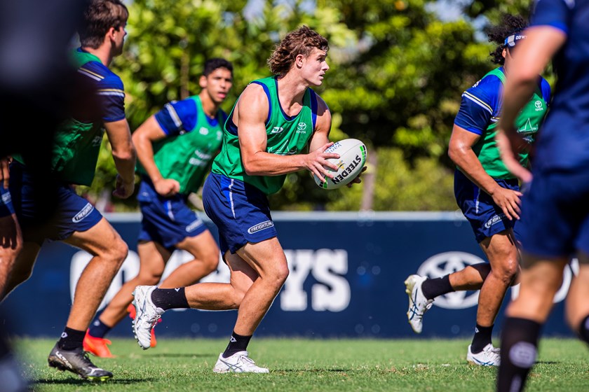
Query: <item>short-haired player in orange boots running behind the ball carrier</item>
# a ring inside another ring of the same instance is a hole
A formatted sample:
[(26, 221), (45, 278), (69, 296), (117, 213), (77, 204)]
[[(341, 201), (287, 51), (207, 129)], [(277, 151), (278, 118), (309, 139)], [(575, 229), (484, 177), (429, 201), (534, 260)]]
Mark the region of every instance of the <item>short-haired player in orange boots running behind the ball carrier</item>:
[[(125, 318), (136, 286), (159, 283), (174, 249), (191, 253), (194, 260), (177, 267), (162, 288), (189, 286), (217, 269), (219, 248), (187, 199), (201, 188), (221, 147), (227, 115), (219, 106), (233, 83), (232, 64), (208, 60), (199, 83), (198, 95), (166, 104), (133, 133), (142, 177), (137, 195), (143, 216), (137, 245), (141, 264), (139, 274), (121, 287), (90, 325), (84, 348), (96, 356), (111, 356), (110, 341), (104, 336)], [(134, 310), (130, 307), (132, 316)], [(151, 346), (155, 345), (152, 333)]]

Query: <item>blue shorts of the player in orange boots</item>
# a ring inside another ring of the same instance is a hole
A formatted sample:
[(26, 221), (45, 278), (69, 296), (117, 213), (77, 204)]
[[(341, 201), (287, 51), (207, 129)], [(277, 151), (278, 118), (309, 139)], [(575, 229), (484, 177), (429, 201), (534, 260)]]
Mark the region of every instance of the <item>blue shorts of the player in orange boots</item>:
[(186, 237), (196, 237), (208, 230), (187, 206), (186, 196), (158, 195), (149, 179), (142, 179), (137, 200), (142, 214), (139, 241), (155, 241), (172, 251)]

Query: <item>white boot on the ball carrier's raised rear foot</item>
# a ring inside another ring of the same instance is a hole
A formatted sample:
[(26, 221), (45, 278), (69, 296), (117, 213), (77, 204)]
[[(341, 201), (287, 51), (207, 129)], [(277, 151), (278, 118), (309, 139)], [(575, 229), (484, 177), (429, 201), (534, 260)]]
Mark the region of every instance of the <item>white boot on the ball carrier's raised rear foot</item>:
[(151, 293), (157, 286), (137, 286), (133, 291), (133, 304), (135, 305), (135, 320), (133, 320), (133, 332), (135, 339), (142, 349), (147, 350), (151, 346), (151, 329), (158, 322), (165, 310), (156, 307), (151, 300)]

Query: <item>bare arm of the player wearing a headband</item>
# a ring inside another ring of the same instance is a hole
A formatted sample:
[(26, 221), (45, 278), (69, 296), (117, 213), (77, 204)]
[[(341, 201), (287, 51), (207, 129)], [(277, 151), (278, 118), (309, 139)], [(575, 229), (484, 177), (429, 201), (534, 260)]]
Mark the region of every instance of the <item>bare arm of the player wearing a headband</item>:
[(469, 132), (462, 127), (454, 124), (452, 136), (448, 147), (448, 155), (452, 162), (456, 164), (470, 181), (476, 186), (493, 197), (493, 201), (508, 219), (520, 218), (520, 197), (522, 193), (503, 188), (492, 179), (485, 169), (483, 169), (480, 160), (478, 160), (473, 146), (480, 139), (478, 134)]

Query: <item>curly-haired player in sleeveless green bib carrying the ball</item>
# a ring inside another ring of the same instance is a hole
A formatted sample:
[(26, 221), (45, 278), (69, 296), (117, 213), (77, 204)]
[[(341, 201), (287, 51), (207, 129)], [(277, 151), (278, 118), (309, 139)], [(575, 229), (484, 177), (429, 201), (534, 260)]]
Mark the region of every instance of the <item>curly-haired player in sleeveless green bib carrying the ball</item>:
[[(205, 181), (205, 212), (219, 228), (231, 283), (198, 283), (180, 289), (135, 289), (135, 334), (149, 348), (152, 325), (172, 308), (238, 309), (229, 345), (214, 372), (256, 372), (247, 347), (288, 276), (285, 254), (267, 195), (282, 188), (286, 174), (309, 169), (323, 178), (335, 169), (325, 153), (331, 115), (311, 87), (323, 83), (327, 40), (303, 26), (290, 32), (269, 59), (275, 76), (255, 80), (241, 93), (224, 127), (221, 153)], [(310, 153), (305, 153), (309, 149)], [(359, 182), (360, 179), (354, 181)]]

